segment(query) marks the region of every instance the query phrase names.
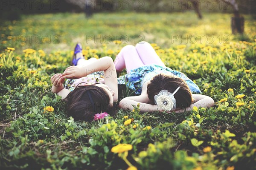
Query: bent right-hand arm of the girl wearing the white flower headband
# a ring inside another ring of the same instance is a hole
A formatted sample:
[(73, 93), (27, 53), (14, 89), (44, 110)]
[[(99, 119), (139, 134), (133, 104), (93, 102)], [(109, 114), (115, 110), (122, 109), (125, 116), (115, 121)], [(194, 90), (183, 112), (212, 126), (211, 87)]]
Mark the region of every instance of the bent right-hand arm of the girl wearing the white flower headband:
[[(194, 99), (194, 102), (192, 105), (190, 105), (189, 107), (185, 108), (185, 109), (175, 109), (175, 113), (183, 113), (185, 111), (191, 111), (193, 109), (193, 107), (202, 107), (202, 108), (210, 108), (214, 106), (214, 100), (209, 97), (209, 96), (205, 96), (202, 94), (192, 94), (192, 98)], [(172, 111), (168, 112), (171, 113)]]

